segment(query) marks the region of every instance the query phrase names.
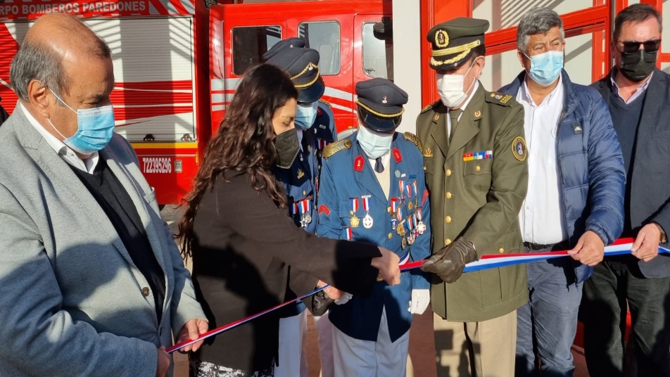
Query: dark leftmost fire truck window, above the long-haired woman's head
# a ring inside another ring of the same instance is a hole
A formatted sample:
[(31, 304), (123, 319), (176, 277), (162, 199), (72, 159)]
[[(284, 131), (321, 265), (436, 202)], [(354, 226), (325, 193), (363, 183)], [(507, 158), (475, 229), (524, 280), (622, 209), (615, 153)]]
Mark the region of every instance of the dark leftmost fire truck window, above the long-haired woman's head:
[(279, 25), (233, 28), (233, 73), (243, 75), (247, 68), (260, 62), (263, 53), (282, 40)]

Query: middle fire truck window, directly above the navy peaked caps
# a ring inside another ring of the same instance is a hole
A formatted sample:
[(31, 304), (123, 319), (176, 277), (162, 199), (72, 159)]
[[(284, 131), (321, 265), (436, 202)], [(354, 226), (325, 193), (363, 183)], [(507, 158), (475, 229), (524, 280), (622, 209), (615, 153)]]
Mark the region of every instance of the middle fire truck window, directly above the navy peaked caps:
[(306, 46), (319, 51), (319, 70), (322, 75), (340, 72), (340, 24), (335, 21), (301, 23), (298, 37), (307, 41)]

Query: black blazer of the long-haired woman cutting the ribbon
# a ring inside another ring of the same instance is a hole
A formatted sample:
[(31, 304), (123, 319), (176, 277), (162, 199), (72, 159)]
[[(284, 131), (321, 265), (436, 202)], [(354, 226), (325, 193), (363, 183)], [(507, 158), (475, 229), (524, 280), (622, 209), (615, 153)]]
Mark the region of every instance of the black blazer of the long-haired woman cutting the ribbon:
[[(226, 172), (203, 196), (194, 233), (193, 281), (210, 329), (308, 293), (318, 279), (369, 295), (378, 274), (370, 265), (381, 256), (377, 246), (298, 228), (242, 172)], [(191, 359), (263, 370), (277, 359), (278, 338), (279, 316), (272, 312), (206, 340)]]

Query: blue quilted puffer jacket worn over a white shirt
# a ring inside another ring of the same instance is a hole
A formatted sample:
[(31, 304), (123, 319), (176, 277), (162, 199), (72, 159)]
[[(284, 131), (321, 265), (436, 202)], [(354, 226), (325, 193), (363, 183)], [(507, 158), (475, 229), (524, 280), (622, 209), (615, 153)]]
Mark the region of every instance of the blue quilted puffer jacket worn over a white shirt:
[[(563, 113), (557, 133), (557, 160), (562, 214), (570, 247), (585, 231), (593, 231), (605, 245), (624, 229), (626, 172), (609, 108), (593, 88), (573, 84), (565, 70)], [(500, 93), (517, 96), (526, 71)], [(533, 153), (531, 151), (531, 153)], [(593, 267), (579, 264), (576, 281), (588, 279)]]

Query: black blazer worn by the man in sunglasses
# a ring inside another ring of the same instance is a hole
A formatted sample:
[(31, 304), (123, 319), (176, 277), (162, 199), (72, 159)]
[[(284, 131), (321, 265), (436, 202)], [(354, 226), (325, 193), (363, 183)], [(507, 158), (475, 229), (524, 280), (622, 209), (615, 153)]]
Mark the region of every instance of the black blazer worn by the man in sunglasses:
[[(612, 80), (609, 75), (591, 84), (609, 106)], [(633, 235), (642, 226), (657, 222), (670, 232), (670, 75), (655, 69), (647, 87), (638, 124), (633, 170), (628, 177), (630, 221)], [(668, 247), (668, 243), (663, 244)], [(637, 258), (636, 258), (637, 259)], [(670, 276), (670, 255), (659, 254), (650, 262), (638, 260), (647, 278)]]

